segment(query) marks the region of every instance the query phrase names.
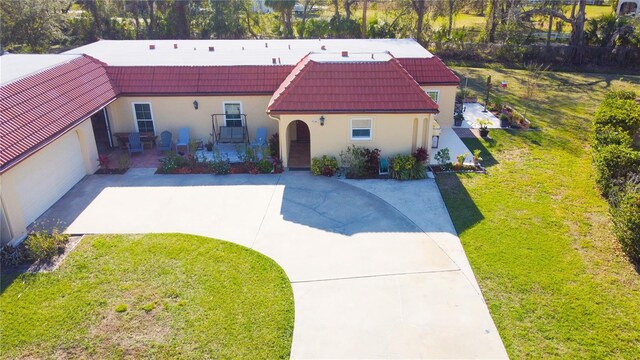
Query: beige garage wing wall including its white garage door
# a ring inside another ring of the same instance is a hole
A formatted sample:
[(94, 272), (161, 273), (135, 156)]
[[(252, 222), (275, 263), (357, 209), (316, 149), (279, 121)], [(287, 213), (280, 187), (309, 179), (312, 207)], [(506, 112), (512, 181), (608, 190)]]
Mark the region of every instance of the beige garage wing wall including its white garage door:
[[(0, 175), (1, 204), (11, 230), (11, 240), (26, 235), (29, 226), (27, 207), (44, 212), (84, 175), (93, 174), (97, 168), (98, 150), (91, 120), (87, 119)], [(70, 169), (79, 171), (70, 174)]]

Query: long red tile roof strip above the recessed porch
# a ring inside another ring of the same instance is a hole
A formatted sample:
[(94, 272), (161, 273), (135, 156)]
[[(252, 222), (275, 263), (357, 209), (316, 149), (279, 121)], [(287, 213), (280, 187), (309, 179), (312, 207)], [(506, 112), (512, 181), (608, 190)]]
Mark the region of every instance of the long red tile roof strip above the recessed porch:
[(273, 94), (291, 72), (274, 66), (109, 66), (123, 95)]

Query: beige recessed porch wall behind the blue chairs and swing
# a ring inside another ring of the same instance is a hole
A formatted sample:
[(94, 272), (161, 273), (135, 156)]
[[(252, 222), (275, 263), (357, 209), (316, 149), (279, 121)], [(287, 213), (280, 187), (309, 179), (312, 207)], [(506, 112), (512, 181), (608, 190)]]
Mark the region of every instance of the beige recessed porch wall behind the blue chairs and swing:
[[(150, 103), (156, 135), (171, 131), (174, 141), (178, 136), (178, 129), (188, 127), (192, 139), (211, 140), (211, 114), (224, 112), (224, 102), (242, 104), (242, 112), (247, 115), (247, 127), (250, 139), (254, 139), (258, 127), (267, 128), (267, 136), (278, 130), (278, 123), (270, 119), (267, 105), (270, 95), (260, 96), (136, 96), (121, 97), (108, 107), (111, 132), (133, 132), (136, 124), (133, 115), (133, 103)], [(198, 101), (198, 110), (193, 102)], [(219, 124), (222, 119), (219, 117)], [(114, 138), (114, 143), (115, 143)]]

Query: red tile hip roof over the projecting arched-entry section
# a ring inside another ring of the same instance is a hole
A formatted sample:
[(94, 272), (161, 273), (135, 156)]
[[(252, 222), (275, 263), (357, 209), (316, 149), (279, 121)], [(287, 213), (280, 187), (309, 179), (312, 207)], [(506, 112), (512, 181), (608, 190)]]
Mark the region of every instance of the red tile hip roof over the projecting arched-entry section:
[(282, 113), (437, 113), (438, 105), (392, 58), (371, 62), (300, 61), (267, 111)]

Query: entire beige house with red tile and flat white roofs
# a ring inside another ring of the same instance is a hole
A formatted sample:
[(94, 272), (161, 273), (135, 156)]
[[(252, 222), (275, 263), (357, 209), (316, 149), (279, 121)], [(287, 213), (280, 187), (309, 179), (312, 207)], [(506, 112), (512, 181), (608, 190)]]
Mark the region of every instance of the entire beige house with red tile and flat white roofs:
[(3, 55), (0, 233), (28, 226), (98, 167), (116, 133), (242, 141), (279, 133), (309, 158), (351, 144), (437, 146), (459, 79), (411, 39), (103, 40), (58, 55)]

